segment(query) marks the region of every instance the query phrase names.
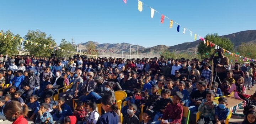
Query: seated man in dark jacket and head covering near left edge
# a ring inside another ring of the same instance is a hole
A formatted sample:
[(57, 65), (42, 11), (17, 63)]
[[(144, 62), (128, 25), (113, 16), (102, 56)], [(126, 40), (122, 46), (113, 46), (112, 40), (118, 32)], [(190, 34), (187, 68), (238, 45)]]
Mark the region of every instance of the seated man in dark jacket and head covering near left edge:
[(25, 77), (20, 91), (22, 94), (25, 94), (25, 97), (23, 97), (23, 100), (25, 103), (29, 102), (30, 96), (32, 96), (34, 88), (40, 85), (40, 79), (38, 76), (34, 75), (33, 70), (28, 71), (28, 76)]

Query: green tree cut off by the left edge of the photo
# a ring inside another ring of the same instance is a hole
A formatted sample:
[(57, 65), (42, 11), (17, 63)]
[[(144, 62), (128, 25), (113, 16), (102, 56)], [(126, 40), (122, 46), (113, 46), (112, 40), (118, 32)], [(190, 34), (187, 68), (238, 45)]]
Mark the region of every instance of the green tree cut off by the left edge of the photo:
[[(6, 38), (4, 39), (5, 36)], [(12, 39), (13, 36), (15, 37), (14, 39)], [(5, 33), (1, 30), (0, 53), (8, 55), (18, 54), (19, 50), (21, 50), (20, 38), (21, 37), (19, 34), (14, 35), (14, 33), (12, 33), (10, 30), (6, 31)]]

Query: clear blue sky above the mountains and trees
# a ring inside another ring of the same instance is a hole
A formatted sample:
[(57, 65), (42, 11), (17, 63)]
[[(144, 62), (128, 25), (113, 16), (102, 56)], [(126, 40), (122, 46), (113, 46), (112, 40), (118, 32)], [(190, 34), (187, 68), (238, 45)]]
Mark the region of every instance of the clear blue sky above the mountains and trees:
[[(165, 16), (196, 34), (231, 34), (256, 29), (255, 0), (142, 0)], [(137, 0), (5, 0), (1, 1), (0, 29), (24, 36), (39, 29), (52, 35), (57, 44), (62, 39), (76, 43), (89, 40), (102, 43), (130, 43), (151, 47), (192, 42), (187, 31), (178, 33), (177, 25)]]

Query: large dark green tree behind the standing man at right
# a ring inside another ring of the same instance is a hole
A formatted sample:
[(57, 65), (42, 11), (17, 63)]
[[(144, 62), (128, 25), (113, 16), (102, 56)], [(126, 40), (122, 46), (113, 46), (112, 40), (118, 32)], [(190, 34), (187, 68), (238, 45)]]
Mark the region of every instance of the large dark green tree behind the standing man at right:
[[(207, 34), (204, 39), (208, 41), (211, 41), (213, 44), (218, 45), (222, 48), (224, 48), (225, 50), (228, 50), (230, 52), (233, 51), (233, 43), (231, 43), (231, 41), (229, 39), (226, 38), (220, 38), (218, 33), (215, 34)], [(210, 47), (210, 43), (209, 46), (207, 46), (206, 44), (204, 44), (204, 42), (200, 42), (198, 45), (198, 52), (199, 55), (202, 58), (209, 58), (210, 55), (214, 52), (215, 50), (215, 46)]]

